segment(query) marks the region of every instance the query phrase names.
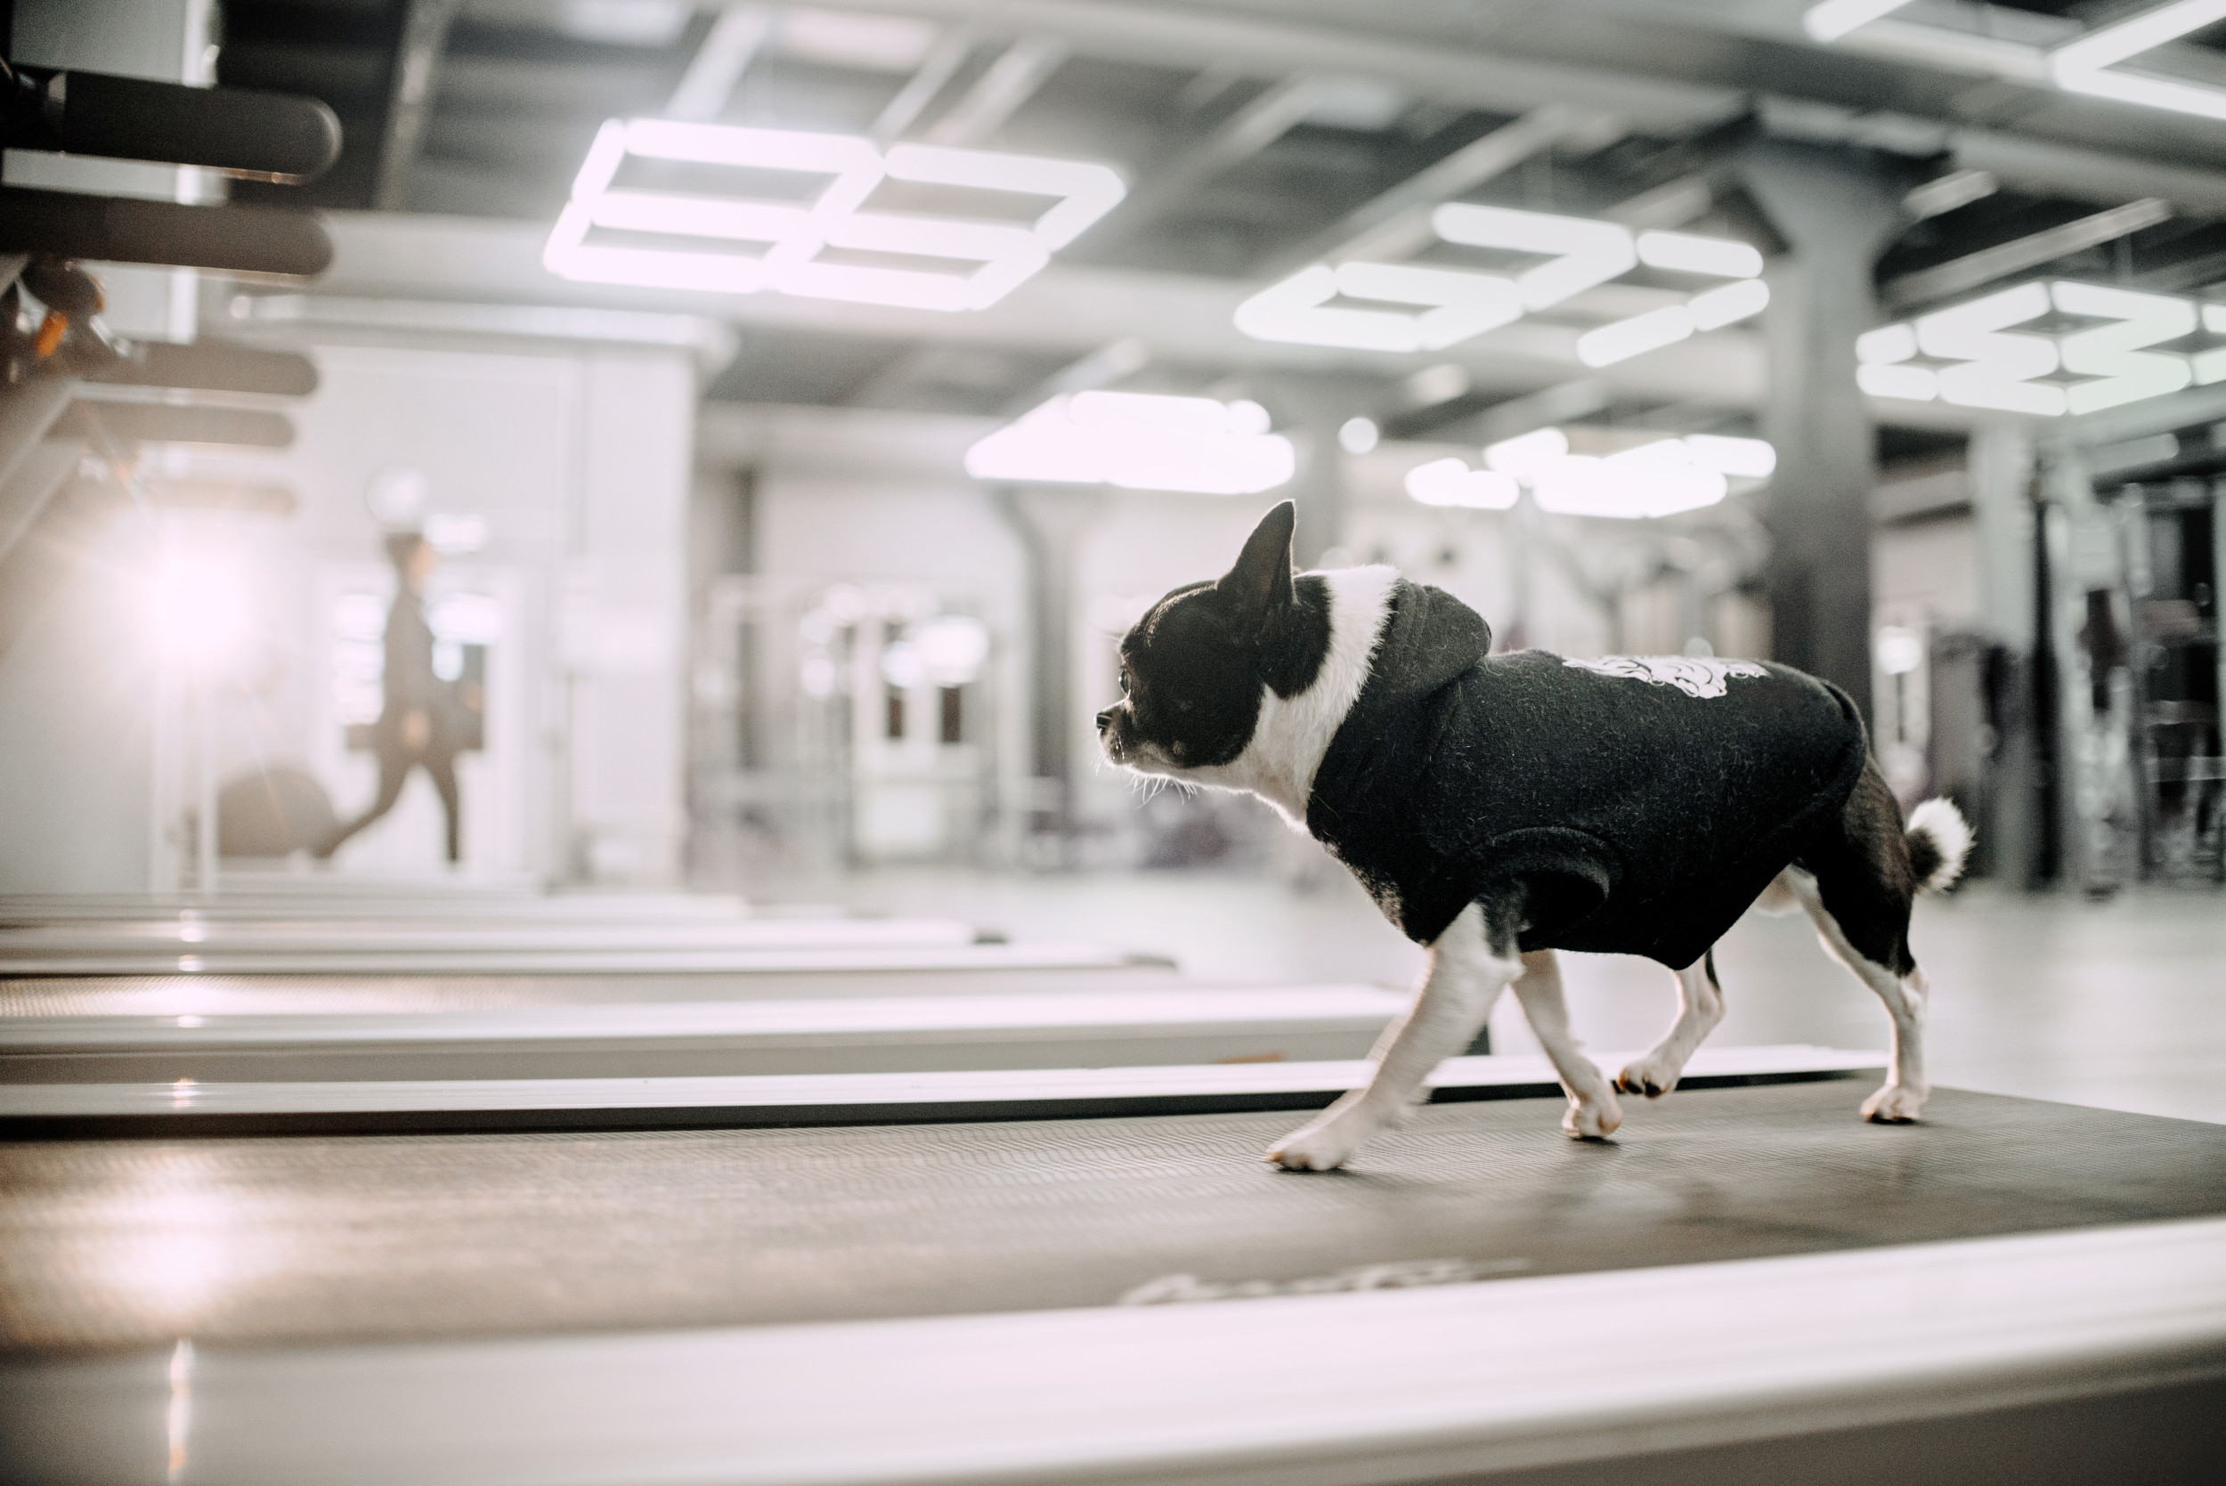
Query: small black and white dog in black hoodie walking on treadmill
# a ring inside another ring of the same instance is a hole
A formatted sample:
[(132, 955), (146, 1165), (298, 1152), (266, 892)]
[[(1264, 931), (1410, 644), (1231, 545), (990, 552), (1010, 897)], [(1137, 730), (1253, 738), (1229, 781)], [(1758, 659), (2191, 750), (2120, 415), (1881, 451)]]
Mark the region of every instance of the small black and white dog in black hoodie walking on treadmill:
[[(1293, 574), (1291, 523), (1278, 505), (1227, 576), (1153, 605), (1120, 647), (1124, 699), (1097, 714), (1115, 765), (1260, 794), (1429, 948), (1367, 1088), (1269, 1161), (1345, 1163), (1507, 985), (1569, 1094), (1563, 1128), (1609, 1135), (1616, 1090), (1670, 1092), (1723, 1019), (1710, 950), (1750, 903), (1808, 910), (1885, 1001), (1892, 1061), (1863, 1117), (1917, 1119), (1910, 899), (1957, 879), (1970, 828), (1939, 799), (1903, 828), (1843, 692), (1754, 661), (1494, 656), (1474, 610), (1389, 567)], [(1676, 1023), (1614, 1088), (1569, 1034), (1554, 950), (1676, 974)]]

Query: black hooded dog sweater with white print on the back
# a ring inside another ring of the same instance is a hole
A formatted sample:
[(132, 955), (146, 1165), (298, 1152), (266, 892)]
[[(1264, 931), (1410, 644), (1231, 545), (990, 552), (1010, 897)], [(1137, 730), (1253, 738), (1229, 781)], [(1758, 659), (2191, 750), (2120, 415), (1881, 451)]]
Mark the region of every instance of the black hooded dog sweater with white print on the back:
[(1854, 790), (1845, 692), (1756, 661), (1491, 656), (1451, 594), (1391, 590), (1307, 828), (1429, 943), (1527, 890), (1525, 950), (1701, 959)]

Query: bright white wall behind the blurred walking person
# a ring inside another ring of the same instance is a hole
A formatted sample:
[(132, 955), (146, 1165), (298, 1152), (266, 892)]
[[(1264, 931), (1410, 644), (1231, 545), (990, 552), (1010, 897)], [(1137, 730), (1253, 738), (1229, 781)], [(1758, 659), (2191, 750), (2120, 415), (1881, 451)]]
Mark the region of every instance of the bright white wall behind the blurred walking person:
[[(167, 518), (196, 563), (254, 596), (245, 690), (216, 699), (223, 779), (305, 767), (345, 819), (376, 765), (347, 752), (334, 710), (334, 601), (385, 596), (374, 474), (412, 467), (427, 514), (485, 521), (485, 545), (443, 563), (434, 592), (501, 605), (487, 747), (461, 761), (463, 850), (474, 872), (668, 881), (686, 825), (681, 694), (686, 481), (695, 369), (679, 351), (305, 345), (312, 398), (285, 405), (292, 449), (149, 452), (149, 478), (283, 485), (292, 516)], [(145, 890), (162, 883), (149, 832), (191, 810), (189, 741), (156, 756), (156, 636), (145, 621), (154, 545), (131, 518), (114, 554), (0, 658), (0, 852), (7, 890)], [(169, 723), (178, 725), (174, 714)], [(165, 772), (160, 796), (149, 776)], [(416, 772), (396, 810), (341, 868), (441, 863), (441, 810)]]

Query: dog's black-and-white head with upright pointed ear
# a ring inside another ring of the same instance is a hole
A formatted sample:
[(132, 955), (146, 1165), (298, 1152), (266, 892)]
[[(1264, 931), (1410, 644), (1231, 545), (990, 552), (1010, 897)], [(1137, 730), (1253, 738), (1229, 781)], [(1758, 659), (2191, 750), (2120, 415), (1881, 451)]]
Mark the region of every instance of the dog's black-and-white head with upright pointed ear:
[(1122, 699), (1097, 714), (1106, 759), (1173, 776), (1233, 763), (1264, 694), (1313, 683), (1329, 625), (1324, 598), (1291, 578), (1296, 516), (1289, 501), (1271, 509), (1235, 567), (1173, 590), (1122, 638)]

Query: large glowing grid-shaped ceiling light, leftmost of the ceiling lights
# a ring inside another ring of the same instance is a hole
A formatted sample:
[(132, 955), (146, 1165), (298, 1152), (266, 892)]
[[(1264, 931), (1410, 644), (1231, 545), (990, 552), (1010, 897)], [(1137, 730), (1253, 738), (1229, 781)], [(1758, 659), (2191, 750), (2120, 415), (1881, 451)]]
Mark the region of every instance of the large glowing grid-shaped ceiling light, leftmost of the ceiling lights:
[[(630, 158), (799, 178), (784, 200), (617, 187)], [(881, 180), (1011, 191), (1048, 205), (1026, 222), (866, 211)], [(986, 309), (1124, 196), (1104, 165), (659, 118), (597, 133), (541, 262), (561, 278), (757, 294), (775, 289), (904, 309)], [(672, 238), (703, 240), (701, 249)], [(826, 256), (835, 249), (835, 256)], [(855, 262), (881, 256), (919, 262)], [(948, 267), (946, 267), (948, 265)]]

